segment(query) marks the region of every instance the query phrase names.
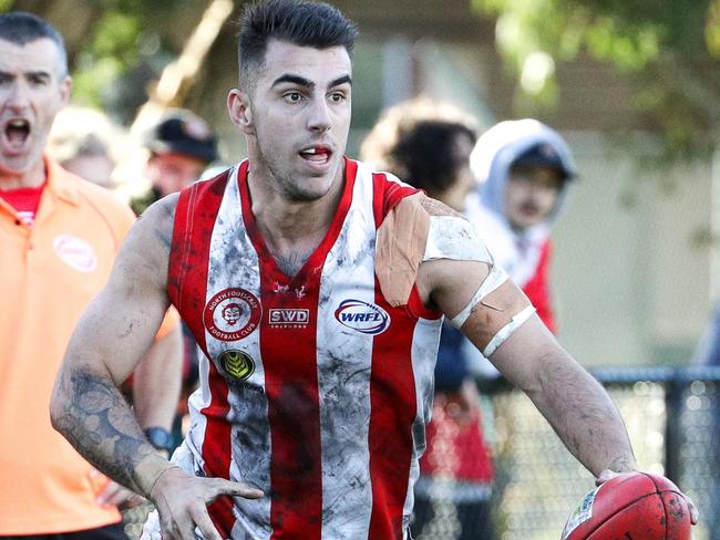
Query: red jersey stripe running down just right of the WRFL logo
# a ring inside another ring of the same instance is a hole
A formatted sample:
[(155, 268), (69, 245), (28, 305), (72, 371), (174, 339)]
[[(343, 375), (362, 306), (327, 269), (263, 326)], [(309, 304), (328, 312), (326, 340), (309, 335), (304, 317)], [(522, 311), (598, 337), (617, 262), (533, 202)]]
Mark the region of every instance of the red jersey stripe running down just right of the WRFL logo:
[(411, 351), (418, 320), (404, 307), (392, 308), (384, 300), (377, 278), (376, 291), (376, 303), (390, 314), (392, 323), (372, 344), (368, 435), (372, 515), (368, 538), (400, 540), (416, 416)]

